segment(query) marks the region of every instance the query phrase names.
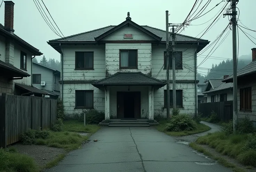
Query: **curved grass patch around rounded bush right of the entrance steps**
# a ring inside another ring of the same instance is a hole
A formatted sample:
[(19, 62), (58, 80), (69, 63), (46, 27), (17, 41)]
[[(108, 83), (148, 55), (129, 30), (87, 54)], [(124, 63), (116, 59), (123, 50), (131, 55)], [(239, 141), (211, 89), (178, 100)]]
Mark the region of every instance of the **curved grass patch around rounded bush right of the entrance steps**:
[(161, 132), (165, 132), (169, 136), (187, 136), (191, 134), (197, 134), (197, 133), (202, 133), (205, 131), (210, 130), (211, 128), (205, 124), (197, 124), (197, 128), (194, 130), (189, 130), (189, 131), (165, 131), (165, 124), (168, 123), (167, 120), (162, 120), (159, 121), (159, 125), (157, 126), (157, 130)]

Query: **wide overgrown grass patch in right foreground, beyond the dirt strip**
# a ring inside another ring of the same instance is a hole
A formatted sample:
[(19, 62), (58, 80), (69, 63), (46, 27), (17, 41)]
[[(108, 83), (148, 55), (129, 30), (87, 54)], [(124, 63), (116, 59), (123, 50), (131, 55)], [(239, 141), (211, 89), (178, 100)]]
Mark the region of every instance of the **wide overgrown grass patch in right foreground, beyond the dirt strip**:
[(223, 132), (210, 133), (197, 139), (198, 144), (206, 144), (219, 153), (237, 159), (243, 165), (256, 166), (256, 150), (245, 150), (247, 134), (232, 134)]

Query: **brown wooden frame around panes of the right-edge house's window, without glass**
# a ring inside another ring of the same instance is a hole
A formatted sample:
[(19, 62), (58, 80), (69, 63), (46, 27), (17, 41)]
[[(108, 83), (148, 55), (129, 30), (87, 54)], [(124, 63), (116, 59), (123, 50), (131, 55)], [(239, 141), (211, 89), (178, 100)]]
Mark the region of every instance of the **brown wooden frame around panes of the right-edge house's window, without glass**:
[[(248, 93), (247, 91), (249, 90), (249, 108), (245, 107), (245, 104), (248, 104)], [(244, 91), (244, 92), (242, 92)], [(247, 98), (247, 100), (246, 100)], [(247, 88), (240, 88), (240, 111), (251, 111), (252, 110), (252, 89), (251, 87)], [(243, 105), (242, 105), (243, 104)], [(244, 107), (243, 107), (244, 106)]]

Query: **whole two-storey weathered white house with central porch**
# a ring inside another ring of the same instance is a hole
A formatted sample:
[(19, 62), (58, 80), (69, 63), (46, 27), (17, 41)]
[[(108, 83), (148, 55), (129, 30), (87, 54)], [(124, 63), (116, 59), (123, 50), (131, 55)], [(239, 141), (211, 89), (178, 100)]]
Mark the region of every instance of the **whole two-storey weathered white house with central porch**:
[[(197, 113), (199, 81), (191, 66), (197, 66), (197, 53), (208, 43), (176, 34), (176, 104), (181, 113)], [(166, 116), (166, 31), (138, 25), (128, 13), (117, 26), (48, 44), (61, 54), (61, 97), (66, 116), (74, 117), (89, 108), (105, 112), (105, 120)], [(172, 100), (170, 81), (170, 105)]]

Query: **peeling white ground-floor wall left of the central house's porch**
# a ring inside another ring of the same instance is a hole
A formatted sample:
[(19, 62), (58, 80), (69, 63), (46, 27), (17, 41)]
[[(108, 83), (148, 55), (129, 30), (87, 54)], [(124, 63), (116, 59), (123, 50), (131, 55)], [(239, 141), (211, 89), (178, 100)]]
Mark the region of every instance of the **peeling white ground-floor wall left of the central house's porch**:
[(104, 90), (99, 90), (90, 83), (65, 83), (63, 84), (63, 105), (64, 113), (67, 117), (75, 118), (76, 114), (82, 113), (82, 109), (75, 108), (75, 90), (94, 90), (93, 106), (96, 110), (105, 112)]

